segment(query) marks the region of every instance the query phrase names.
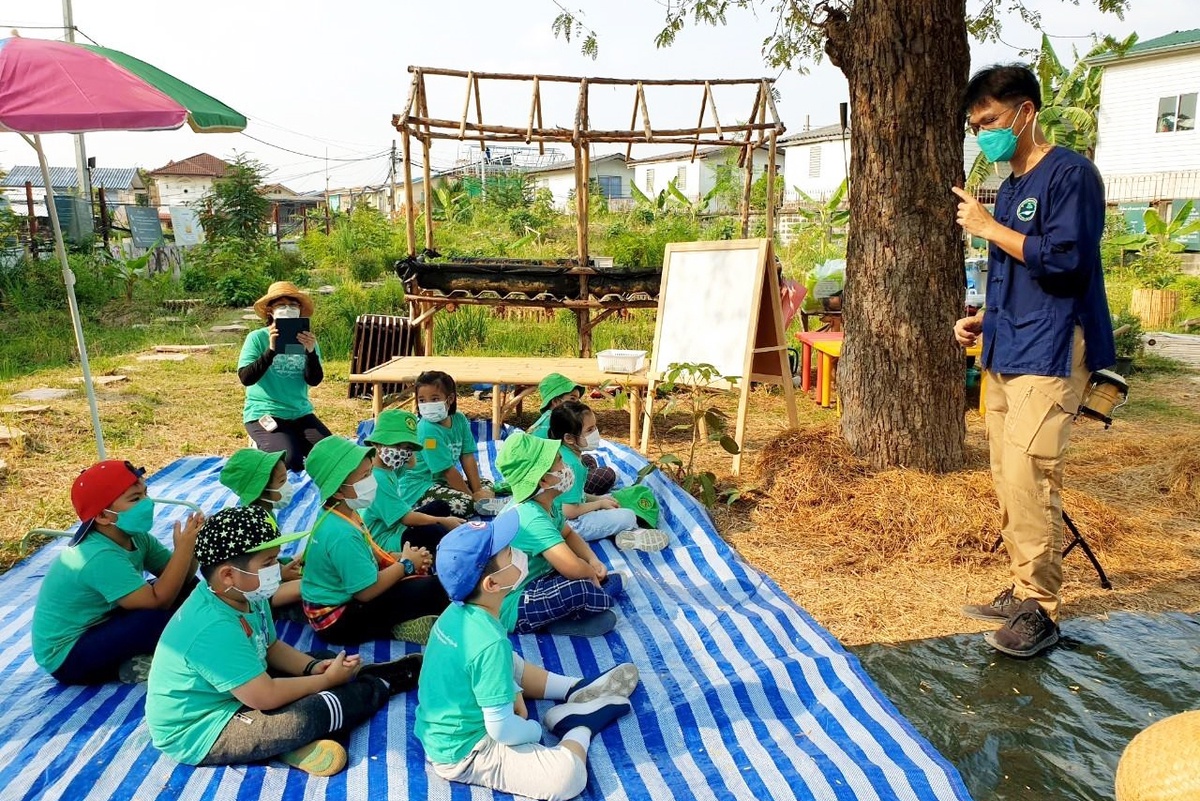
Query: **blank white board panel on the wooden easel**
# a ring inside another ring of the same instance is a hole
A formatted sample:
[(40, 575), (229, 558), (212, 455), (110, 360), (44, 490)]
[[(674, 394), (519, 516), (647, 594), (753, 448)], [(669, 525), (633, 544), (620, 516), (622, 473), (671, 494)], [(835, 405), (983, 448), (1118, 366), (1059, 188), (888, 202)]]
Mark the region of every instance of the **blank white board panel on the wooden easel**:
[(676, 362), (721, 375), (749, 371), (762, 301), (767, 240), (667, 245), (650, 374)]

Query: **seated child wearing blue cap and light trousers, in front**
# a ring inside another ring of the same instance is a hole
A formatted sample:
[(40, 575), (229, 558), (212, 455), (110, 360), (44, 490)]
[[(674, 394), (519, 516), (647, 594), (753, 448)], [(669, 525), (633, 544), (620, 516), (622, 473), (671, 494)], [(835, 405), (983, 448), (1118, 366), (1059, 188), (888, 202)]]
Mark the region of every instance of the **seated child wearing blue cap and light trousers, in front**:
[[(425, 651), (414, 731), (433, 772), (533, 799), (572, 799), (588, 782), (592, 737), (630, 711), (637, 668), (619, 664), (594, 679), (547, 673), (514, 654), (500, 607), (522, 583), (524, 555), (510, 547), (514, 510), (467, 523), (438, 548), (438, 579), (454, 603)], [(542, 716), (560, 741), (541, 745), (526, 699), (565, 701)]]

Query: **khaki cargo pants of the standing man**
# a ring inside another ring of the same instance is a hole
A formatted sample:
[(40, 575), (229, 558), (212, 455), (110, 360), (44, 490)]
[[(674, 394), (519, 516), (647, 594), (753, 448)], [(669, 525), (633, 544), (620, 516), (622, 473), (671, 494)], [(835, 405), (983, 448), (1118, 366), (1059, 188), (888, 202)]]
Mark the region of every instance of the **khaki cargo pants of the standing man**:
[(1037, 598), (1055, 619), (1062, 586), (1063, 452), (1090, 378), (1080, 327), (1070, 378), (986, 374), (991, 477), (1014, 595)]

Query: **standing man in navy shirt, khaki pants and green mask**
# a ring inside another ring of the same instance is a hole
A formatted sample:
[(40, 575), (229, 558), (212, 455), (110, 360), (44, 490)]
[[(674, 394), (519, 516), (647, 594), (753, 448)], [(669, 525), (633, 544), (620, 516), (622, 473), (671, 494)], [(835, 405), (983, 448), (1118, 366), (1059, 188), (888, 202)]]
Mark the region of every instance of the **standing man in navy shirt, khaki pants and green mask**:
[(954, 187), (958, 221), (988, 240), (988, 300), (959, 320), (967, 347), (983, 336), (988, 442), (1013, 586), (970, 618), (1003, 624), (996, 650), (1033, 656), (1058, 642), (1063, 452), (1092, 371), (1116, 361), (1104, 294), (1104, 185), (1084, 156), (1046, 141), (1042, 92), (1021, 65), (977, 72), (964, 108), (979, 150), (1013, 174), (996, 215)]

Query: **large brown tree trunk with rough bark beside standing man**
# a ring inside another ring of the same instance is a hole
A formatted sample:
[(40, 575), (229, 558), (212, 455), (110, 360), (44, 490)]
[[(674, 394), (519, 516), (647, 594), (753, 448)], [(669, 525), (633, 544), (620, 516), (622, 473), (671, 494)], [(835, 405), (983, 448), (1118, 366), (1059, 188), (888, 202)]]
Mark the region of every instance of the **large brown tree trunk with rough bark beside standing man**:
[(842, 434), (878, 468), (954, 470), (965, 278), (950, 186), (962, 185), (966, 2), (856, 0), (826, 34), (852, 120)]

